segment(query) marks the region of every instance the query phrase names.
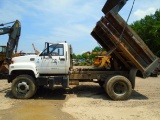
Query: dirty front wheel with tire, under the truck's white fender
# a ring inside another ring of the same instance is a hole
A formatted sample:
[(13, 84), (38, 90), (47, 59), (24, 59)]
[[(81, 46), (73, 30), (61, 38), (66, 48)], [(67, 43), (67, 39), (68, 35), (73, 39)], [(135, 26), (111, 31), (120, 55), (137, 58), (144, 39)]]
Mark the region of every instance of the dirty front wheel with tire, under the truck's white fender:
[(36, 93), (37, 87), (31, 76), (20, 75), (13, 80), (11, 90), (16, 98), (28, 99)]

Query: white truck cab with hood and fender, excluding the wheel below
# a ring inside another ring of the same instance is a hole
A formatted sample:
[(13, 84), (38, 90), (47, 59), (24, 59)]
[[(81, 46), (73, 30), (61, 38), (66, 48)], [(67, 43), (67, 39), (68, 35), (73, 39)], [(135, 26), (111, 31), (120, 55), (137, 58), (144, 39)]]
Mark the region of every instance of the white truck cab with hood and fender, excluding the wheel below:
[(15, 57), (9, 66), (9, 74), (16, 71), (31, 71), (35, 78), (47, 74), (68, 74), (71, 67), (71, 46), (66, 42), (58, 44), (46, 43), (46, 48), (38, 55)]

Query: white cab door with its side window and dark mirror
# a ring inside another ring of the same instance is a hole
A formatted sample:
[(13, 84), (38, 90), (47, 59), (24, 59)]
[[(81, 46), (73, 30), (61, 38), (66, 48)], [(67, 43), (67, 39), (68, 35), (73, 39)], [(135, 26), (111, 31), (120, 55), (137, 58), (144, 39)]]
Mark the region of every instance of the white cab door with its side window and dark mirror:
[(40, 74), (66, 74), (64, 45), (50, 45), (39, 55), (36, 64)]

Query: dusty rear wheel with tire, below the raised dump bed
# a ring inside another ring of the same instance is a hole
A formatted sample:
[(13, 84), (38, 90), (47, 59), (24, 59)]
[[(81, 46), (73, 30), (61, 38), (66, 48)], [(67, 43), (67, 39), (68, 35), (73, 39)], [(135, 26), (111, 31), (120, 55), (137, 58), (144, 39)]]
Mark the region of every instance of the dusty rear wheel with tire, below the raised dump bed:
[(113, 100), (126, 100), (132, 93), (131, 82), (120, 75), (112, 76), (106, 80), (104, 88)]

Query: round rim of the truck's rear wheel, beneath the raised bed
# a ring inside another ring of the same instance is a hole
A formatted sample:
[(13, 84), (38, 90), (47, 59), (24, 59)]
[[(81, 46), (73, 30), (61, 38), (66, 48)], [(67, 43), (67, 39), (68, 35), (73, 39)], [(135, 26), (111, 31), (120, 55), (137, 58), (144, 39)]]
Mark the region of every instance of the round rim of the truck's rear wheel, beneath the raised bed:
[(113, 85), (113, 91), (119, 95), (125, 94), (127, 92), (127, 89), (127, 85), (122, 81), (118, 81)]

